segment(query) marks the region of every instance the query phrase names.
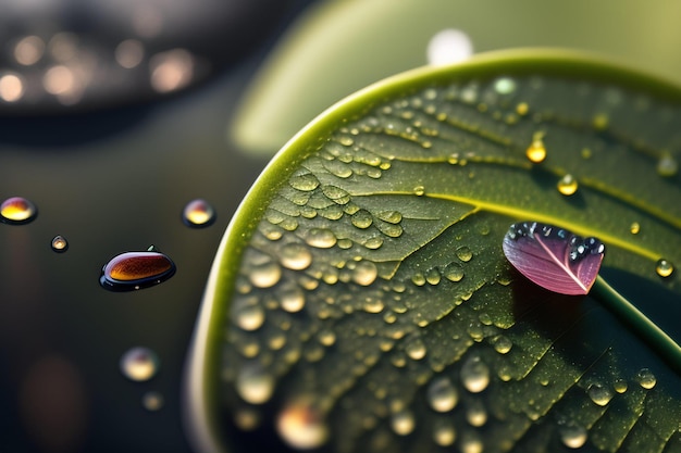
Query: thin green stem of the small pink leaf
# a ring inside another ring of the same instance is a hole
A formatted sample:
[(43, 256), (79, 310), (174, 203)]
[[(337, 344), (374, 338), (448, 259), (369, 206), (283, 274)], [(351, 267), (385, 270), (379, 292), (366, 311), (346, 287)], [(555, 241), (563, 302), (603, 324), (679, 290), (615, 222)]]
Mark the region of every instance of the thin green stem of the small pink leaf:
[(603, 277), (596, 277), (591, 289), (591, 295), (633, 328), (674, 370), (681, 372), (681, 347), (608, 285)]

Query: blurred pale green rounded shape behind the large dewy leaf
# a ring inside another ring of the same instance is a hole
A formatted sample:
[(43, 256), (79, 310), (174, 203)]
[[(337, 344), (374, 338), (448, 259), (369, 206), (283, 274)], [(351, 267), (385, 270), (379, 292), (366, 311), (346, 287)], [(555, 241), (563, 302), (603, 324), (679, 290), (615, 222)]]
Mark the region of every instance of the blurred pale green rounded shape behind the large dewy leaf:
[[(228, 125), (245, 152), (272, 155), (319, 112), (428, 63), (443, 29), (476, 52), (517, 47), (596, 51), (681, 80), (681, 3), (636, 0), (340, 0), (312, 8), (263, 63)], [(267, 133), (263, 133), (267, 130)]]

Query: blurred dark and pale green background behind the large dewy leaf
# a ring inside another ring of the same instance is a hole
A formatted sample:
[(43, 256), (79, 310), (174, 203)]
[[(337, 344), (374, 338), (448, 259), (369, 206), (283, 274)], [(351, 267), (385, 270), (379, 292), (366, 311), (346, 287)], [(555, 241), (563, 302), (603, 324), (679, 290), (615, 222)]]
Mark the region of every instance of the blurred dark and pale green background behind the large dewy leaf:
[[(680, 16), (661, 0), (0, 0), (0, 202), (34, 207), (0, 206), (0, 452), (193, 451), (183, 367), (220, 238), (334, 102), (518, 47), (681, 81)], [(174, 276), (100, 286), (152, 244)]]

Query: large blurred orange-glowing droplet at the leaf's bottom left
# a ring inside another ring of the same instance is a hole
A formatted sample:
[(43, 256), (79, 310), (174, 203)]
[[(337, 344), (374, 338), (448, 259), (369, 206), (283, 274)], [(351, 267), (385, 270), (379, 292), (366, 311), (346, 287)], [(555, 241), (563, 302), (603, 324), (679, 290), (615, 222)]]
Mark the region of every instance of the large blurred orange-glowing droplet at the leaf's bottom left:
[(298, 450), (317, 449), (329, 439), (323, 414), (308, 399), (284, 407), (276, 418), (276, 431), (284, 442)]

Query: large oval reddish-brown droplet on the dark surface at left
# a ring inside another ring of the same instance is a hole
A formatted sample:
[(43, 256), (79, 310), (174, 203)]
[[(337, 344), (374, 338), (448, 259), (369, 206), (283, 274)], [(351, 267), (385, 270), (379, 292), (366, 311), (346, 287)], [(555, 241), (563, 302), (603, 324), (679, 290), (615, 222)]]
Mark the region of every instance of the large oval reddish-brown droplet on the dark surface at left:
[(132, 291), (158, 285), (174, 274), (171, 259), (151, 246), (146, 252), (125, 252), (112, 257), (102, 267), (99, 282), (111, 291)]

